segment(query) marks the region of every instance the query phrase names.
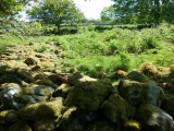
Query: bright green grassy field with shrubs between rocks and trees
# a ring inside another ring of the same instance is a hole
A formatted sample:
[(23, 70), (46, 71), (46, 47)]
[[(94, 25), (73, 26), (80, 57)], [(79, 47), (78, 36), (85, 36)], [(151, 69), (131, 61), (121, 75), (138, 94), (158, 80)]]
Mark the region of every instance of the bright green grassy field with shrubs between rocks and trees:
[[(53, 41), (62, 50), (62, 59), (54, 62), (71, 64), (62, 70), (66, 71), (73, 67), (91, 76), (101, 73), (110, 75), (120, 69), (130, 71), (147, 61), (163, 67), (174, 64), (174, 25), (167, 24), (140, 31), (115, 27), (98, 32), (92, 27), (85, 27), (73, 35), (27, 36), (20, 39), (5, 34), (0, 37), (1, 50), (8, 45)], [(38, 52), (46, 50), (44, 45), (37, 48)]]

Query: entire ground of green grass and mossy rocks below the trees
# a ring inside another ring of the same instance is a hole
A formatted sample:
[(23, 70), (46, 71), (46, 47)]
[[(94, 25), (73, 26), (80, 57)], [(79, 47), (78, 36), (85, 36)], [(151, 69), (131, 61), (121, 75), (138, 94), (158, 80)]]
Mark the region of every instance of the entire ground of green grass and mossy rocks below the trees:
[(0, 131), (174, 130), (173, 25), (0, 44)]

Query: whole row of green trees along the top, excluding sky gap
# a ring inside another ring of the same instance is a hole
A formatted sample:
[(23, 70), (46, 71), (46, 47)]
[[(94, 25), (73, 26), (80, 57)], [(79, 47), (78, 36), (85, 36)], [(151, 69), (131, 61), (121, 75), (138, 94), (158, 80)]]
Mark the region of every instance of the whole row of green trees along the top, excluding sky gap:
[[(112, 0), (100, 14), (108, 24), (174, 23), (174, 0)], [(29, 21), (46, 25), (88, 23), (73, 0), (0, 0), (0, 23), (15, 20), (24, 11)], [(99, 21), (99, 20), (96, 20)], [(91, 21), (90, 21), (91, 22)], [(95, 22), (95, 21), (94, 21)]]

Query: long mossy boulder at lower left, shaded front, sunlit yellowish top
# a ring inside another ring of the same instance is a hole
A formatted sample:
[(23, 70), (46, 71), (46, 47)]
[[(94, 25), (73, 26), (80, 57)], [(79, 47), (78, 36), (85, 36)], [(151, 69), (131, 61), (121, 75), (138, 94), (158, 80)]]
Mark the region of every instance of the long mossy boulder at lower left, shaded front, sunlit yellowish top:
[(54, 119), (59, 122), (65, 110), (64, 106), (53, 100), (27, 105), (21, 108), (17, 115), (24, 120), (39, 121), (42, 119)]

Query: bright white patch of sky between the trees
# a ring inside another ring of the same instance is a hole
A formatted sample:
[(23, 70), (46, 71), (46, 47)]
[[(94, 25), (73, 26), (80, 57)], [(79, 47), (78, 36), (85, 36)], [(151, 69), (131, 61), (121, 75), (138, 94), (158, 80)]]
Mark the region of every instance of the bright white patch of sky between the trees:
[(110, 7), (111, 0), (74, 0), (76, 7), (85, 14), (87, 19), (100, 19), (100, 13), (104, 7)]

